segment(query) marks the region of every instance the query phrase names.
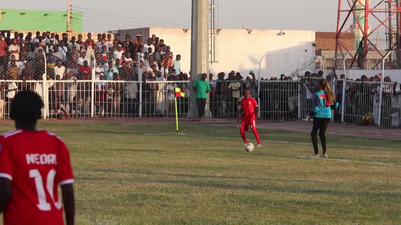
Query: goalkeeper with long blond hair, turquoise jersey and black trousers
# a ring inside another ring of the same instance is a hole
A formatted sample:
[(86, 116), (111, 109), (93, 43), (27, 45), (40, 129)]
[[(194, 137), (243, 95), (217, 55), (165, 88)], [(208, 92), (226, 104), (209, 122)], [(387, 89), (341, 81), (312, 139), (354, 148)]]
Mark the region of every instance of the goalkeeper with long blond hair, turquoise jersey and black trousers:
[[(327, 158), (326, 152), (326, 129), (328, 123), (331, 120), (332, 110), (338, 108), (338, 102), (335, 100), (334, 93), (331, 90), (330, 83), (328, 80), (320, 80), (317, 86), (318, 92), (314, 94), (314, 108), (310, 114), (306, 117), (306, 121), (309, 120), (311, 116), (314, 116), (312, 132), (310, 133), (312, 137), (313, 149), (315, 155), (312, 158)], [(320, 141), (322, 142), (323, 154), (319, 155), (318, 152), (318, 139), (316, 137), (319, 131)]]

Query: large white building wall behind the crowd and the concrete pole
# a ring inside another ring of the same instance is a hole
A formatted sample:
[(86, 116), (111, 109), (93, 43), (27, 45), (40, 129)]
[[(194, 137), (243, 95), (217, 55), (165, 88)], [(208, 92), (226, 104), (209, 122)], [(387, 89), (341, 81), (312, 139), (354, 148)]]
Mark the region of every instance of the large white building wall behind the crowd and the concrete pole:
[[(171, 47), (174, 59), (175, 55), (181, 55), (181, 71), (190, 70), (190, 29), (139, 28), (110, 32), (119, 33), (121, 40), (129, 34), (133, 41), (136, 40), (136, 35), (141, 34), (144, 43), (152, 34), (156, 34)], [(243, 77), (253, 70), (257, 76), (259, 61), (261, 61), (261, 77), (279, 77), (280, 74), (296, 76), (299, 60), (305, 55), (307, 57), (303, 62), (310, 62), (307, 69), (314, 69), (315, 31), (312, 30), (221, 29), (217, 40), (218, 62), (210, 65), (210, 72), (215, 74), (214, 78), (217, 78), (219, 72), (225, 72), (227, 77), (231, 70), (240, 72)], [(265, 57), (261, 60), (263, 55)]]

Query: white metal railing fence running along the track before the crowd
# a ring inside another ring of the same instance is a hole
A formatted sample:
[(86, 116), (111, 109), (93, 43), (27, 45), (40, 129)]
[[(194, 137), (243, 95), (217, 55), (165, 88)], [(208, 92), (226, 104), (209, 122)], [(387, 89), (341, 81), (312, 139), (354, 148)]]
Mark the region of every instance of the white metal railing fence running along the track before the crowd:
[[(179, 117), (186, 117), (190, 81), (142, 76), (142, 80), (0, 80), (0, 118), (9, 119), (16, 92), (32, 90), (45, 104), (44, 118), (63, 117), (174, 117), (174, 89), (186, 92), (177, 98)], [(321, 78), (299, 80), (212, 80), (210, 110), (213, 117), (236, 118), (245, 90), (257, 99), (263, 119), (302, 119), (313, 108), (313, 93)], [(333, 91), (340, 108), (333, 121), (401, 127), (401, 86), (396, 82), (334, 80)]]

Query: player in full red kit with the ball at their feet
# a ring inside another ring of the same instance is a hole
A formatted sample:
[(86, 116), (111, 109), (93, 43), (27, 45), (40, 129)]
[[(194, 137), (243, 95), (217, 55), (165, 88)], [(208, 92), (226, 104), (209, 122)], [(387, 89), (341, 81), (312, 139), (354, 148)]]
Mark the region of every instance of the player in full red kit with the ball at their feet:
[(259, 106), (257, 105), (255, 98), (251, 97), (250, 90), (245, 90), (245, 98), (241, 100), (241, 110), (238, 114), (238, 121), (241, 117), (242, 112), (244, 113), (244, 116), (242, 118), (240, 133), (242, 139), (245, 142), (245, 145), (248, 143), (247, 138), (245, 137), (245, 131), (248, 131), (248, 128), (250, 126), (253, 134), (255, 135), (257, 147), (262, 147), (259, 140), (259, 133), (257, 133), (256, 130), (255, 122), (259, 118)]

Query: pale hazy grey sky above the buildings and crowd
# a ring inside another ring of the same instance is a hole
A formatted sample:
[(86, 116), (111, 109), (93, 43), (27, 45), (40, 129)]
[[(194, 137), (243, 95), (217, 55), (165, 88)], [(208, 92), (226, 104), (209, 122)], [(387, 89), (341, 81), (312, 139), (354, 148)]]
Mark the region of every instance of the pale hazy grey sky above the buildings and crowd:
[[(371, 5), (379, 0), (371, 0)], [(67, 10), (67, 0), (1, 1), (1, 8)], [(84, 32), (141, 27), (191, 26), (191, 0), (71, 0), (72, 10), (84, 12)], [(346, 1), (343, 1), (346, 2)], [(218, 0), (219, 28), (336, 31), (337, 0)], [(345, 8), (346, 3), (343, 3)], [(349, 8), (349, 7), (348, 7)], [(104, 13), (106, 12), (106, 13)], [(342, 14), (345, 18), (345, 14)], [(381, 16), (379, 16), (380, 18)], [(373, 17), (372, 19), (373, 20)], [(346, 27), (352, 24), (352, 20)], [(379, 24), (372, 21), (372, 26)], [(379, 30), (379, 38), (384, 38)]]

